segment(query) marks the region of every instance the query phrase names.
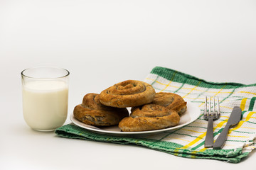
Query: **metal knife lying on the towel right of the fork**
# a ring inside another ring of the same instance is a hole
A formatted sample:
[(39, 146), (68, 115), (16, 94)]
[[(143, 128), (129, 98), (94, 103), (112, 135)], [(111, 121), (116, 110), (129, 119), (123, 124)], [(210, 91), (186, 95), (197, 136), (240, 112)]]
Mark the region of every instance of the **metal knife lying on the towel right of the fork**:
[(228, 118), (228, 123), (225, 125), (225, 128), (222, 132), (220, 132), (220, 135), (218, 136), (217, 140), (215, 140), (213, 144), (213, 149), (221, 149), (224, 144), (225, 140), (228, 137), (228, 130), (231, 126), (236, 125), (239, 123), (242, 115), (242, 110), (240, 107), (235, 106), (233, 108), (233, 111), (230, 114), (230, 118)]

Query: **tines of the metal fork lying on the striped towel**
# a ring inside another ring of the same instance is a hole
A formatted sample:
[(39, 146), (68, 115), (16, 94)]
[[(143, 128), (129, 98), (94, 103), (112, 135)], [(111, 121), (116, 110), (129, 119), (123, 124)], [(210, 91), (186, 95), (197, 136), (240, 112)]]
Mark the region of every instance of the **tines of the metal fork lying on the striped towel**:
[(213, 120), (220, 117), (220, 102), (218, 96), (206, 96), (203, 118), (208, 120), (210, 117), (213, 117)]

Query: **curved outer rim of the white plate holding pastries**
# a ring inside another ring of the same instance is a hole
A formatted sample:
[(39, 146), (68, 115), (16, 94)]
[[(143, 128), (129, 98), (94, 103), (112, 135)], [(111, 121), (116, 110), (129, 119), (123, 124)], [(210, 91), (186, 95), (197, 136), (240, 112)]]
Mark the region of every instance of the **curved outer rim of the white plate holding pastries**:
[[(100, 134), (105, 134), (105, 135), (149, 135), (152, 133), (159, 133), (159, 132), (166, 132), (166, 131), (171, 131), (171, 130), (176, 130), (178, 128), (182, 128), (190, 123), (193, 123), (195, 120), (197, 120), (199, 118), (199, 116), (201, 115), (201, 109), (196, 106), (194, 103), (191, 103), (191, 101), (186, 101), (187, 102), (187, 106), (193, 106), (193, 108), (196, 108), (198, 110), (198, 113), (196, 115), (194, 115), (191, 120), (189, 120), (186, 123), (183, 123), (181, 125), (176, 125), (174, 127), (171, 128), (164, 128), (164, 129), (160, 129), (160, 130), (147, 130), (147, 131), (139, 131), (139, 132), (117, 132), (117, 131), (107, 131), (107, 130), (102, 130), (100, 128), (97, 128), (93, 125), (87, 125), (85, 123), (80, 122), (79, 120), (77, 120), (73, 113), (70, 114), (70, 120), (72, 123), (74, 123), (75, 125), (79, 126), (80, 128), (84, 128), (85, 130), (90, 130), (92, 132), (97, 132)], [(78, 123), (77, 123), (78, 122)], [(80, 125), (83, 124), (83, 125)], [(92, 127), (92, 128), (90, 128)]]

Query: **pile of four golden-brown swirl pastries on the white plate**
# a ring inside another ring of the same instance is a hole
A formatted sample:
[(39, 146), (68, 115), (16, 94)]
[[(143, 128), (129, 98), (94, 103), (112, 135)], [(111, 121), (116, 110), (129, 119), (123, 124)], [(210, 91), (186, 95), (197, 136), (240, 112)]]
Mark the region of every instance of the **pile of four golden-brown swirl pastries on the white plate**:
[(73, 115), (87, 125), (118, 125), (124, 132), (138, 132), (176, 126), (185, 111), (186, 102), (181, 96), (156, 93), (150, 84), (127, 80), (100, 94), (86, 94)]

